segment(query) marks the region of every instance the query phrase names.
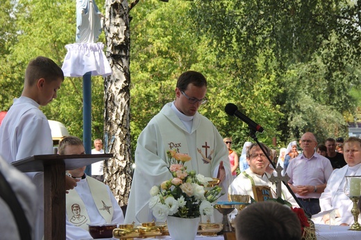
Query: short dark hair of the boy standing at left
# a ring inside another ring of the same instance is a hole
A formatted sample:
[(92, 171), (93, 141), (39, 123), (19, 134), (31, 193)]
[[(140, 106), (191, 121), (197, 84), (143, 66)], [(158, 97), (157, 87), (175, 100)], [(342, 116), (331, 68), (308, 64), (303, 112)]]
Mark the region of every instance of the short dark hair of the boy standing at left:
[(31, 60), (25, 70), (25, 85), (33, 86), (37, 80), (64, 80), (62, 69), (50, 58), (39, 56)]

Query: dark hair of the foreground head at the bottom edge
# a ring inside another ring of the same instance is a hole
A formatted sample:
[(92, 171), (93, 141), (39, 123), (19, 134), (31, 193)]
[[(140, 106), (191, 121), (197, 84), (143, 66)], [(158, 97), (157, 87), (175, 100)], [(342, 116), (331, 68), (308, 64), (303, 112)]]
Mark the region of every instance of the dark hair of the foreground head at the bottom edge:
[(237, 240), (299, 240), (301, 223), (289, 207), (271, 201), (253, 203), (235, 218)]

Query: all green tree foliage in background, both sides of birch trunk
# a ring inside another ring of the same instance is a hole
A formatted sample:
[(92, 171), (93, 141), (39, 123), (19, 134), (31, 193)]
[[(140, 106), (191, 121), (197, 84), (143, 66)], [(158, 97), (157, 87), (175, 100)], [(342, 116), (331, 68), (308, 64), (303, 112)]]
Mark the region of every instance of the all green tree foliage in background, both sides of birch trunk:
[[(96, 1), (100, 9), (103, 2)], [(128, 1), (130, 3), (131, 1)], [(131, 10), (131, 146), (146, 123), (174, 100), (176, 79), (189, 69), (208, 79), (200, 108), (242, 150), (245, 123), (224, 112), (235, 103), (260, 123), (258, 139), (278, 147), (306, 130), (319, 142), (346, 134), (361, 118), (360, 6), (356, 1), (140, 1)], [(71, 0), (4, 0), (0, 13), (0, 105), (20, 96), (29, 60), (45, 55), (58, 65), (75, 42)], [(103, 10), (102, 10), (103, 11)], [(105, 12), (103, 12), (105, 14)], [(103, 34), (99, 38), (104, 42)], [(92, 77), (92, 136), (103, 138), (103, 79)], [(66, 78), (48, 119), (83, 136), (81, 78)], [(240, 151), (238, 151), (240, 153)]]

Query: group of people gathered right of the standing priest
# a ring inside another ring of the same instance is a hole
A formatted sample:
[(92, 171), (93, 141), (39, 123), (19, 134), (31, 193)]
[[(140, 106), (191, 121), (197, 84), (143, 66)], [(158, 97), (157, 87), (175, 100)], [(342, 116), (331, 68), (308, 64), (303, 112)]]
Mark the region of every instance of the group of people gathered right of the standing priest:
[[(297, 198), (294, 199), (282, 185), (284, 200), (294, 207), (302, 207), (309, 216), (325, 212), (324, 215), (321, 214), (321, 218), (314, 219), (317, 223), (351, 225), (353, 203), (344, 193), (345, 176), (361, 175), (361, 139), (349, 137), (344, 141), (339, 137), (337, 141), (328, 138), (324, 144), (318, 144), (312, 132), (305, 132), (299, 139), (301, 151), (298, 151), (296, 141), (289, 142), (287, 148), (280, 148), (276, 166), (281, 166), (281, 174), (289, 177), (287, 185)], [(270, 173), (277, 173), (274, 169), (267, 171), (267, 166), (271, 168), (269, 161), (274, 159), (274, 155), (268, 146), (262, 143), (260, 145), (269, 159), (259, 146), (251, 144), (246, 151), (249, 169), (239, 171), (228, 189), (229, 194), (253, 197), (253, 186), (258, 185), (270, 187), (276, 198), (276, 186), (270, 181)], [(342, 147), (342, 153), (337, 151), (337, 146)], [(333, 221), (330, 221), (328, 213), (331, 210), (335, 212)]]

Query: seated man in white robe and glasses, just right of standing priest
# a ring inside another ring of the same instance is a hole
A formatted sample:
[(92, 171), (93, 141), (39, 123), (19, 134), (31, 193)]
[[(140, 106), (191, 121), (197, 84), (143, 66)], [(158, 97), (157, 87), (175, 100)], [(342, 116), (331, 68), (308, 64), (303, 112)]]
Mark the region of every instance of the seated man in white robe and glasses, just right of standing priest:
[[(265, 149), (267, 155), (270, 156), (271, 151), (269, 148), (265, 144), (260, 144), (262, 148)], [(276, 185), (269, 181), (271, 175), (267, 173), (267, 170), (269, 170), (269, 160), (267, 160), (266, 155), (262, 152), (258, 144), (251, 144), (246, 153), (246, 160), (249, 164), (249, 169), (240, 173), (240, 175), (233, 180), (229, 187), (228, 194), (249, 195), (254, 198), (253, 186), (268, 186), (271, 188), (272, 196), (277, 198)], [(292, 194), (289, 193), (287, 187), (284, 185), (282, 185), (282, 198), (291, 203), (292, 207), (299, 207)]]

